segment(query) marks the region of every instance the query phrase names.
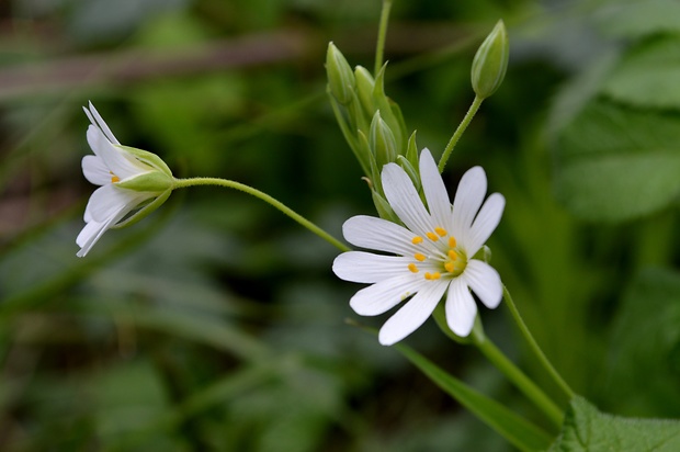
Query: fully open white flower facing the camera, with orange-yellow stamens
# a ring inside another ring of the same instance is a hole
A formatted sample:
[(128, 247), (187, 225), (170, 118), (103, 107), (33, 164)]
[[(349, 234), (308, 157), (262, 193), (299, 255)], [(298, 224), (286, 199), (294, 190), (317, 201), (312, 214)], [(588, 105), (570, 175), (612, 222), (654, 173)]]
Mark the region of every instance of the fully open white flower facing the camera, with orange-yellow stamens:
[(375, 316), (406, 301), (381, 328), (378, 339), (385, 346), (421, 326), (444, 294), (446, 323), (461, 337), (469, 335), (477, 316), (471, 289), (489, 308), (502, 297), (498, 272), (473, 257), (498, 226), (505, 197), (494, 193), (484, 202), (486, 174), (474, 167), (461, 179), (452, 206), (427, 148), (420, 155), (420, 178), (428, 207), (401, 167), (383, 168), (385, 196), (406, 227), (362, 215), (342, 227), (350, 244), (398, 256), (349, 251), (333, 262), (339, 278), (372, 284), (350, 300), (356, 314)]

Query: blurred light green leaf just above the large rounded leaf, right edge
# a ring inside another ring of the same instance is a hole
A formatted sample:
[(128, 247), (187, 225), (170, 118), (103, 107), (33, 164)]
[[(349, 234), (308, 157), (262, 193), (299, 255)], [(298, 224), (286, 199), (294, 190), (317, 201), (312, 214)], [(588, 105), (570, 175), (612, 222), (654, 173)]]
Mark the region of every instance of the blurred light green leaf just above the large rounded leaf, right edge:
[(642, 43), (627, 52), (611, 72), (602, 91), (633, 105), (680, 109), (679, 79), (680, 37), (664, 36)]

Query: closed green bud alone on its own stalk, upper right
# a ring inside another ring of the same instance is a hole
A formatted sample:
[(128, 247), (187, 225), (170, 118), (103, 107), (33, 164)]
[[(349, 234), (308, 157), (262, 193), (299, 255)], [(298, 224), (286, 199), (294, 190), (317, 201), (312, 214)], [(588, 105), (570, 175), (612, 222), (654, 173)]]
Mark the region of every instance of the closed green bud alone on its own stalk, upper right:
[(484, 39), (473, 60), (472, 82), (477, 97), (486, 99), (494, 94), (508, 69), (508, 33), (500, 20)]

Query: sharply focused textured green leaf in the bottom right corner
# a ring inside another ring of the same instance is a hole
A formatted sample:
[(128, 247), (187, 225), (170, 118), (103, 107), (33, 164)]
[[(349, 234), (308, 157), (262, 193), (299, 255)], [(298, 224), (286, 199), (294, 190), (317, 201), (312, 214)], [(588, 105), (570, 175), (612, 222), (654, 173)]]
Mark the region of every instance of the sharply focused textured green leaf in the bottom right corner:
[(582, 397), (567, 410), (549, 452), (675, 452), (680, 450), (680, 421), (634, 419), (598, 411)]

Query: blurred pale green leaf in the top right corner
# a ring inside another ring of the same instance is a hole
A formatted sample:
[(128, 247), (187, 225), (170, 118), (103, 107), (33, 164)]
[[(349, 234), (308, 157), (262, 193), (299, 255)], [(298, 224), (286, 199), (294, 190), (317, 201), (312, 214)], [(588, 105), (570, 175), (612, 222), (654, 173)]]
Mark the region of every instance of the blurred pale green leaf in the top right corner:
[(676, 0), (609, 0), (593, 20), (604, 33), (634, 38), (680, 31), (680, 3)]

